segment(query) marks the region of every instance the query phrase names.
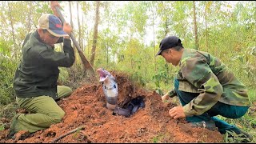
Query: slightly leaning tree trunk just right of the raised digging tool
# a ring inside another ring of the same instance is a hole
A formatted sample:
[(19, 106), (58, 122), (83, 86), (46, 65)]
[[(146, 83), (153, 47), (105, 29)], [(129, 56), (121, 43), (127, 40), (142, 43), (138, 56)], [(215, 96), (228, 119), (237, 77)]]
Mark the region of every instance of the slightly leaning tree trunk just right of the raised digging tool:
[(96, 51), (96, 44), (98, 38), (98, 21), (99, 21), (99, 1), (96, 1), (96, 10), (95, 10), (95, 23), (94, 23), (94, 40), (93, 40), (93, 47), (91, 49), (91, 57), (90, 57), (90, 64), (94, 66), (94, 58), (95, 58), (95, 51)]

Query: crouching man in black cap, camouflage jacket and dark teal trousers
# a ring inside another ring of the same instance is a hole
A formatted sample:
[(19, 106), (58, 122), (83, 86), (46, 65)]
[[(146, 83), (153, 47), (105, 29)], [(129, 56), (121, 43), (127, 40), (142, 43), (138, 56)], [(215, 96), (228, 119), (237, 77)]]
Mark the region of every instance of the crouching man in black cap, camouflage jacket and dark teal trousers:
[(213, 55), (194, 49), (184, 49), (176, 36), (163, 38), (160, 50), (166, 62), (179, 66), (174, 90), (162, 96), (162, 101), (178, 96), (182, 106), (169, 110), (171, 118), (186, 118), (188, 126), (204, 127), (225, 134), (227, 130), (241, 134), (245, 142), (250, 134), (214, 116), (241, 118), (251, 105), (246, 86)]

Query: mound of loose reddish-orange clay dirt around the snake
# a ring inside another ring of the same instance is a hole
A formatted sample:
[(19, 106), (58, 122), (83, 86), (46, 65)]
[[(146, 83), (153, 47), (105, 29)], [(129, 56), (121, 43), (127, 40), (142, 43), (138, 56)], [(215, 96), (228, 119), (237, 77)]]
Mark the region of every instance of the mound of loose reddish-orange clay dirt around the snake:
[[(136, 86), (126, 74), (110, 73), (118, 83), (118, 106), (138, 96), (145, 97), (146, 106), (128, 118), (113, 115), (106, 108), (101, 83), (84, 84), (58, 101), (66, 112), (62, 122), (34, 134), (20, 131), (15, 139), (6, 138), (8, 130), (3, 130), (0, 143), (223, 142), (218, 131), (188, 127), (184, 119), (171, 119), (168, 111), (177, 106), (173, 102), (162, 102), (159, 94)], [(67, 134), (79, 126), (83, 128)], [(67, 135), (59, 138), (63, 134)]]

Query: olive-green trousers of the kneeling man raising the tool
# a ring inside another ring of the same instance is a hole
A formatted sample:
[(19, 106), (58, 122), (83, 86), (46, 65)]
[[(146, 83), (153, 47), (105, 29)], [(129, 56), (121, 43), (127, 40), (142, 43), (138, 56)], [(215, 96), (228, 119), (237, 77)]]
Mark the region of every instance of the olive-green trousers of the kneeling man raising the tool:
[[(57, 86), (58, 98), (64, 98), (72, 93), (70, 87)], [(55, 102), (54, 98), (42, 95), (33, 98), (17, 98), (18, 106), (26, 109), (30, 114), (16, 114), (13, 120), (14, 132), (27, 130), (33, 133), (49, 128), (50, 125), (61, 122), (65, 112)]]

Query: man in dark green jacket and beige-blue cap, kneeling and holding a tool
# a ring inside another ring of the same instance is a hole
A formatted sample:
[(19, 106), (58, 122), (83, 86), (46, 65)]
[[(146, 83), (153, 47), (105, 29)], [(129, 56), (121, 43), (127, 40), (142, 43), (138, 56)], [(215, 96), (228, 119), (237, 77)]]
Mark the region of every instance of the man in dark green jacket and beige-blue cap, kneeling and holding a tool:
[[(42, 14), (38, 29), (27, 34), (22, 46), (22, 60), (14, 75), (14, 90), (18, 106), (30, 114), (16, 114), (12, 119), (8, 138), (20, 130), (30, 133), (61, 122), (65, 112), (55, 102), (69, 96), (70, 87), (57, 86), (58, 66), (70, 67), (74, 63), (74, 50), (69, 34), (72, 27), (53, 14)], [(54, 44), (63, 42), (63, 51), (54, 50)]]

